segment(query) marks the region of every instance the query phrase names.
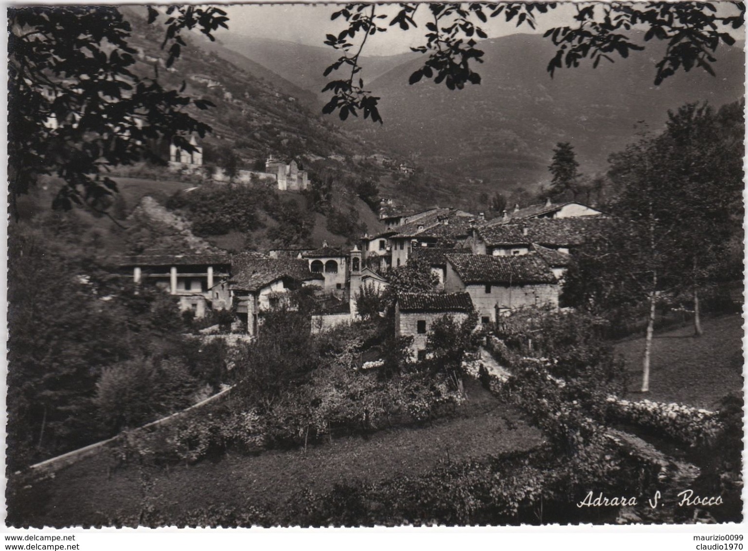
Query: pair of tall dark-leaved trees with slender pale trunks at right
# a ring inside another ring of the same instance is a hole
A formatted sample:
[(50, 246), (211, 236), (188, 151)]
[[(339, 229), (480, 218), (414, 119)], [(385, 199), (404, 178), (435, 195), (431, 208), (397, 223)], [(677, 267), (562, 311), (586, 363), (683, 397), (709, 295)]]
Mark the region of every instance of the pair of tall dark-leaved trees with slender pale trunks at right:
[(700, 335), (700, 290), (729, 273), (729, 243), (741, 237), (743, 127), (738, 104), (689, 104), (669, 113), (658, 136), (610, 158), (620, 189), (614, 229), (580, 256), (568, 292), (598, 311), (646, 302), (643, 392), (660, 296), (690, 293)]

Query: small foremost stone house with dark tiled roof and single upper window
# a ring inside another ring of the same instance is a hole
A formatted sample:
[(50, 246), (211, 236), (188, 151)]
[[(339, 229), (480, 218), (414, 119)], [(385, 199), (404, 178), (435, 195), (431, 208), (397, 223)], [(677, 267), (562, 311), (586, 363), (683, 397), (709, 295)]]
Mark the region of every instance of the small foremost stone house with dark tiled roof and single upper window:
[(395, 303), (395, 335), (412, 336), (412, 359), (426, 359), (432, 324), (445, 314), (462, 322), (472, 311), (469, 293), (402, 293)]

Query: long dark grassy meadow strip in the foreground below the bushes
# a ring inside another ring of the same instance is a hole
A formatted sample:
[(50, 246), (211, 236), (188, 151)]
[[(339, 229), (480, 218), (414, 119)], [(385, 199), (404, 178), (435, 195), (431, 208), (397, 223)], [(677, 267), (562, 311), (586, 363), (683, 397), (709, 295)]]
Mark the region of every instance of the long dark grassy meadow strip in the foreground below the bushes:
[[(455, 416), (429, 426), (397, 427), (368, 438), (351, 436), (310, 445), (307, 451), (266, 451), (257, 456), (227, 454), (167, 474), (148, 475), (152, 502), (168, 514), (209, 505), (285, 502), (300, 490), (329, 490), (336, 482), (375, 481), (415, 475), (447, 460), (480, 458), (542, 442), (538, 430), (493, 398), (477, 383), (466, 386), (468, 403)], [(32, 526), (108, 523), (138, 514), (144, 497), (142, 472), (135, 466), (107, 475), (108, 458), (92, 457), (63, 469), (43, 488), (43, 505), (29, 518)]]

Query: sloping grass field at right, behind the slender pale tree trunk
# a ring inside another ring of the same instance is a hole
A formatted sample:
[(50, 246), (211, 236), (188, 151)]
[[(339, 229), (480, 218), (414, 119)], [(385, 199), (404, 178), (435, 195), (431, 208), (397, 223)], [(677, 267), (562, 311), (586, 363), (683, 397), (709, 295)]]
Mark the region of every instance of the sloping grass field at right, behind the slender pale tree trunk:
[(649, 392), (639, 392), (644, 338), (616, 344), (626, 360), (628, 398), (714, 408), (724, 395), (743, 389), (743, 319), (739, 314), (706, 318), (704, 335), (688, 325), (655, 333)]

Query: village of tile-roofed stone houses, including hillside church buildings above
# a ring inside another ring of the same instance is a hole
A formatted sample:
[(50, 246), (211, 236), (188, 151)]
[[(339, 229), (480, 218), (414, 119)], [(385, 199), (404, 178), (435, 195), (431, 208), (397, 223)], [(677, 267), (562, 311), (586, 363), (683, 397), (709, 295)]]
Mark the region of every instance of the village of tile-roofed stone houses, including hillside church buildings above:
[[(201, 162), (190, 164), (198, 167)], [(177, 162), (171, 165), (181, 168)], [(267, 165), (280, 168), (277, 173), (268, 168), (267, 173), (254, 174), (272, 174), (278, 189), (287, 189), (286, 177), (292, 174), (301, 186), (293, 160), (283, 165), (270, 158)], [(515, 308), (558, 308), (574, 248), (602, 231), (606, 219), (595, 208), (575, 201), (554, 204), (550, 199), (523, 208), (515, 205), (490, 221), (484, 213), (433, 207), (382, 213), (385, 229), (362, 235), (351, 248), (323, 242), (314, 249), (297, 246), (230, 255), (185, 239), (155, 243), (138, 255), (115, 256), (112, 261), (121, 273), (132, 273), (135, 283), (155, 285), (179, 297), (183, 311), (192, 311), (197, 318), (231, 311), (236, 315), (235, 331), (257, 337), (263, 312), (292, 307), (289, 293), (307, 286), (321, 298), (319, 313), (310, 319), (313, 332), (361, 320), (357, 311), (361, 296), (381, 294), (388, 285), (387, 273), (416, 258), (428, 266), (433, 289), (420, 299), (409, 295), (411, 305), (396, 302), (395, 326), (397, 335), (417, 338), (413, 356), (423, 359), (426, 341), (417, 335), (426, 335), (432, 320), (462, 311), (450, 307), (450, 299), (476, 311), (482, 324), (497, 323)], [(439, 300), (429, 301), (433, 293), (445, 295), (444, 306)], [(333, 308), (328, 297), (336, 299)], [(421, 302), (422, 308), (412, 306)], [(419, 312), (423, 320), (401, 323), (401, 316), (409, 319)], [(219, 330), (215, 326), (203, 331), (214, 329)]]

